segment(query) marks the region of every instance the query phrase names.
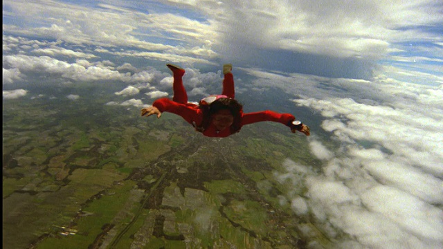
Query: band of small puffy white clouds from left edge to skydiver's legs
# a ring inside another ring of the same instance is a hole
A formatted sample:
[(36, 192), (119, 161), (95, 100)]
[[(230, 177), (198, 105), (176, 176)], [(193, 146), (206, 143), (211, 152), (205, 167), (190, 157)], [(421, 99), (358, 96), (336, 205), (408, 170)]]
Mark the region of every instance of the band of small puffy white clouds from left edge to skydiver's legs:
[[(14, 80), (29, 82), (30, 79), (38, 77), (44, 77), (46, 82), (51, 80), (60, 82), (60, 79), (79, 83), (113, 80), (132, 84), (132, 86), (127, 86), (122, 91), (116, 92), (116, 95), (136, 95), (147, 89), (149, 90), (147, 95), (151, 98), (166, 96), (167, 93), (161, 90), (170, 91), (172, 89), (172, 77), (165, 77), (164, 73), (155, 68), (138, 70), (134, 74), (120, 73), (114, 70), (116, 65), (107, 60), (89, 62), (87, 59), (77, 59), (75, 63), (69, 63), (48, 56), (6, 55), (3, 56), (3, 65), (9, 68), (3, 68), (4, 83), (11, 83)], [(129, 64), (125, 64), (123, 68), (128, 68), (128, 66)], [(220, 89), (222, 79), (219, 72), (200, 73), (194, 68), (186, 68), (186, 71), (183, 84), (188, 89), (190, 97), (208, 95), (208, 89), (212, 89), (211, 91)]]

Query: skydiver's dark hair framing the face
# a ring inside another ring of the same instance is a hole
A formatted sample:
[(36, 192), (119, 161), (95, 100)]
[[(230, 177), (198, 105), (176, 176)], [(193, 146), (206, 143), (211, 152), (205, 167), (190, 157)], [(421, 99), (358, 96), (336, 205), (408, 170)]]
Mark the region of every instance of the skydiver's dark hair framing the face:
[[(201, 122), (200, 125), (202, 130), (201, 132), (203, 132), (209, 126), (213, 114), (217, 113), (220, 110), (229, 110), (234, 117), (234, 122), (230, 126), (231, 134), (240, 131), (240, 129), (242, 128), (243, 106), (242, 104), (237, 102), (237, 100), (234, 100), (233, 98), (219, 98), (209, 105), (200, 107), (204, 114), (203, 122)], [(197, 131), (199, 131), (199, 129), (197, 129)]]

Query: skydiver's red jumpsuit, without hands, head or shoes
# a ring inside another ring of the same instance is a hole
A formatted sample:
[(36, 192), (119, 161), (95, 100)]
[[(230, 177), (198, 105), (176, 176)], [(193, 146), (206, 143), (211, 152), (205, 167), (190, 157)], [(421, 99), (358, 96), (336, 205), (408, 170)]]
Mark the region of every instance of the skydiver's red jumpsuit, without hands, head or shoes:
[[(184, 120), (190, 124), (201, 124), (203, 121), (203, 113), (199, 109), (197, 104), (188, 103), (188, 95), (183, 86), (182, 76), (183, 73), (174, 72), (174, 84), (172, 86), (174, 90), (174, 98), (172, 100), (168, 98), (161, 98), (156, 100), (152, 106), (159, 109), (159, 111), (168, 111), (170, 113), (181, 116)], [(229, 98), (235, 97), (234, 91), (234, 77), (232, 73), (224, 75), (223, 80), (223, 93)], [(276, 113), (274, 111), (257, 111), (253, 113), (242, 113), (241, 126), (246, 124), (252, 124), (255, 122), (272, 121), (280, 122), (284, 125), (288, 125), (296, 118), (289, 113)], [(224, 138), (229, 136), (230, 129), (224, 129), (224, 131), (217, 131), (215, 125), (210, 123), (209, 126), (203, 132), (204, 136)]]

